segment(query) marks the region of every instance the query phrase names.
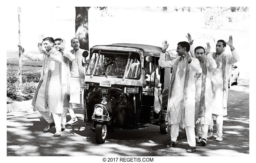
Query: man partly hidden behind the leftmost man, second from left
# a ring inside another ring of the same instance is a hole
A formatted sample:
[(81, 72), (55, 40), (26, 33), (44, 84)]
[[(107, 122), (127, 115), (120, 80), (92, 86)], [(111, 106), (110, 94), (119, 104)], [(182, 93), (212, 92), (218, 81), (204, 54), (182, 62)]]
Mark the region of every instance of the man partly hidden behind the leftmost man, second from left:
[(65, 40), (57, 38), (54, 40), (54, 47), (62, 54), (61, 66), (61, 92), (63, 100), (63, 113), (61, 114), (61, 130), (65, 130), (67, 121), (67, 108), (70, 106), (70, 67), (69, 62), (75, 59), (75, 56), (65, 49)]

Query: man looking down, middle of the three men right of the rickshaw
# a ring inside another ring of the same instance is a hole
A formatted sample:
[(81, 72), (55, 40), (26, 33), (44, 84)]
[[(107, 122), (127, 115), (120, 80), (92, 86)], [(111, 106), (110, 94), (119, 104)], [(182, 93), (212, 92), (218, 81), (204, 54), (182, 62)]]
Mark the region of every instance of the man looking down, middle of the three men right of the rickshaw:
[[(217, 64), (212, 58), (212, 55), (209, 55), (209, 43), (207, 43), (206, 50), (201, 46), (196, 47), (195, 50), (193, 50), (193, 45), (190, 47), (191, 52), (194, 52), (193, 55), (200, 61), (202, 68), (202, 73), (195, 74), (195, 126), (198, 135), (197, 143), (206, 145), (208, 126), (212, 125), (212, 73), (216, 69)], [(204, 66), (206, 66), (206, 68)], [(206, 72), (204, 72), (205, 70)]]

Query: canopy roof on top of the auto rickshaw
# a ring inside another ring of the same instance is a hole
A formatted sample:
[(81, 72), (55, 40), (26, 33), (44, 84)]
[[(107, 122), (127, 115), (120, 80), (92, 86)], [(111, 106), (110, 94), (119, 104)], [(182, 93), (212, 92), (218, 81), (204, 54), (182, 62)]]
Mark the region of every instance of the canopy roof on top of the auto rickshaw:
[(108, 50), (125, 50), (125, 51), (143, 51), (143, 56), (154, 56), (160, 57), (162, 48), (152, 45), (143, 45), (143, 44), (128, 44), (128, 43), (117, 43), (111, 45), (97, 45), (92, 48), (98, 49), (108, 49)]

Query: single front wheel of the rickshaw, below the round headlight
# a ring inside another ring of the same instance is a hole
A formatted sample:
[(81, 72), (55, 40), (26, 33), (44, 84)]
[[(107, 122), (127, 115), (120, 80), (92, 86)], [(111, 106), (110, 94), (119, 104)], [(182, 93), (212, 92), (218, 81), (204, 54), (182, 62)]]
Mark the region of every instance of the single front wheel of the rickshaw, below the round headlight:
[(106, 124), (97, 124), (95, 129), (95, 140), (97, 144), (105, 143), (108, 134)]

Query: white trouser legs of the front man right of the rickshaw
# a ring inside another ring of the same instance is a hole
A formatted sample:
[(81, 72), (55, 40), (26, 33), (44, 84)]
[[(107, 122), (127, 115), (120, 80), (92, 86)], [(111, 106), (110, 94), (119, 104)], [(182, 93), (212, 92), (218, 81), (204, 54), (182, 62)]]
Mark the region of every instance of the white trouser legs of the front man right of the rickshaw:
[[(195, 128), (190, 126), (185, 126), (186, 136), (189, 146), (195, 147)], [(171, 124), (171, 141), (176, 142), (177, 137), (179, 136), (179, 123)]]

